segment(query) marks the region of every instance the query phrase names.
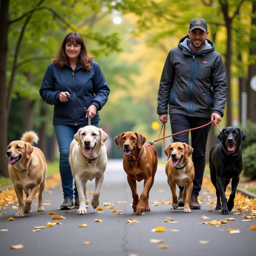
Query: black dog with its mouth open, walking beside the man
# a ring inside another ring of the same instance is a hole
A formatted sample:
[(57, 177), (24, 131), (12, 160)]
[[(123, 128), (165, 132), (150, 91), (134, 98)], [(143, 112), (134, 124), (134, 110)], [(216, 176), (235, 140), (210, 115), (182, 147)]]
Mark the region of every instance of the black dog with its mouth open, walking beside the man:
[[(222, 203), (221, 214), (228, 214), (228, 211), (230, 212), (234, 207), (236, 187), (239, 182), (239, 175), (243, 169), (240, 145), (245, 139), (245, 136), (244, 132), (240, 131), (240, 129), (229, 126), (223, 129), (218, 136), (221, 143), (214, 145), (210, 151), (209, 163), (211, 180), (216, 188), (217, 196), (215, 210), (220, 210)], [(230, 179), (232, 179), (232, 192), (227, 202), (225, 191)]]

